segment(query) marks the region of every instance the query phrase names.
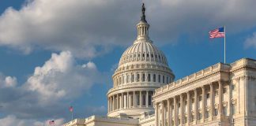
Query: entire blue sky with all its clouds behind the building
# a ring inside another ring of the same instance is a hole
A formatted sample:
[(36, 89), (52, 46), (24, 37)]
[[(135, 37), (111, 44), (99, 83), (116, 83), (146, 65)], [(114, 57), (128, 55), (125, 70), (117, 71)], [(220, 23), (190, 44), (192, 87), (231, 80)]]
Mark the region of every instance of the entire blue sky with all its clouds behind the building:
[[(227, 63), (256, 59), (253, 0), (144, 2), (149, 36), (175, 80), (224, 62), (224, 39), (208, 34), (224, 24)], [(140, 11), (136, 0), (1, 1), (0, 123), (62, 124), (69, 106), (74, 117), (105, 115), (111, 76), (136, 38)]]

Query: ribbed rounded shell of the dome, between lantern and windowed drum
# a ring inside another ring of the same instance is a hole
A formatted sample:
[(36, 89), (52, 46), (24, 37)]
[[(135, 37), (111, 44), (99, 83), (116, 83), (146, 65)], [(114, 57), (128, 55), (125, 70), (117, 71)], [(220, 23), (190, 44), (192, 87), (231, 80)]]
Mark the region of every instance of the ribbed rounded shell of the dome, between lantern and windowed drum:
[(130, 64), (137, 64), (146, 62), (155, 65), (164, 65), (168, 67), (168, 61), (161, 50), (148, 39), (147, 41), (141, 41), (134, 43), (128, 47), (127, 50), (122, 54), (119, 61), (119, 67)]

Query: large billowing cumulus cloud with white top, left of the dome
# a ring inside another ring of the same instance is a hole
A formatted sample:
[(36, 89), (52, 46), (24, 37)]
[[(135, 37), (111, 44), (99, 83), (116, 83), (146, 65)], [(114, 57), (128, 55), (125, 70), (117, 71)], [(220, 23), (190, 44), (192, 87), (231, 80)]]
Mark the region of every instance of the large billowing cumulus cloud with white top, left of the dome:
[[(0, 81), (5, 85), (17, 83), (10, 76)], [(93, 84), (105, 81), (105, 73), (99, 72), (92, 61), (79, 65), (70, 51), (62, 51), (36, 67), (24, 84), (0, 88), (0, 110), (6, 115), (15, 113), (18, 119), (66, 117), (70, 101), (85, 94)]]

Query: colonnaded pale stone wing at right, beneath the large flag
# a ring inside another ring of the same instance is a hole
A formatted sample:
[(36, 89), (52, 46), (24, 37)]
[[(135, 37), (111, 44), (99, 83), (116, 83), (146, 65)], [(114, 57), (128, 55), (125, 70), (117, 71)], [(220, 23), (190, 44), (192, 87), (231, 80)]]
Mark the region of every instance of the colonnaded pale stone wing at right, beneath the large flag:
[(160, 87), (155, 125), (256, 125), (255, 79), (256, 61), (243, 58)]

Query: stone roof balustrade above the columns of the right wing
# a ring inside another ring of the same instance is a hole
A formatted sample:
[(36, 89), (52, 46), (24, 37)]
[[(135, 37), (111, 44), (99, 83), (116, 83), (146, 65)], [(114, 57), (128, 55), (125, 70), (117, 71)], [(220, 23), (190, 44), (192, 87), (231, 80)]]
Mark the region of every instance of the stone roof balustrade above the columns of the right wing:
[(183, 84), (185, 83), (190, 83), (193, 82), (194, 80), (198, 80), (203, 76), (207, 76), (210, 75), (214, 72), (218, 72), (218, 71), (226, 71), (228, 72), (230, 70), (230, 65), (225, 65), (222, 63), (218, 63), (216, 65), (212, 65), (206, 69), (202, 69), (199, 72), (194, 72), (193, 74), (191, 74), (190, 76), (185, 76), (182, 79), (176, 80), (175, 82), (169, 83), (168, 85), (165, 85), (163, 87), (157, 88), (156, 89), (156, 95), (160, 94), (162, 92), (165, 91), (170, 91), (174, 88), (183, 86)]

